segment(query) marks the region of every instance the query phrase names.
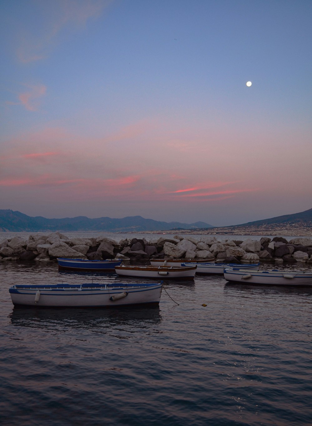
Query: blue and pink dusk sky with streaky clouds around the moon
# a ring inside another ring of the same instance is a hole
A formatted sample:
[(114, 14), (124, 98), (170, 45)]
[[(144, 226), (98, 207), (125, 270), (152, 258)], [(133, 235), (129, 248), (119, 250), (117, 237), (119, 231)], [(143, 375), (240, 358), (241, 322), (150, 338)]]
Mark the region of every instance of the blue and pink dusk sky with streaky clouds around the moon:
[(311, 0), (0, 16), (0, 209), (226, 226), (312, 207)]

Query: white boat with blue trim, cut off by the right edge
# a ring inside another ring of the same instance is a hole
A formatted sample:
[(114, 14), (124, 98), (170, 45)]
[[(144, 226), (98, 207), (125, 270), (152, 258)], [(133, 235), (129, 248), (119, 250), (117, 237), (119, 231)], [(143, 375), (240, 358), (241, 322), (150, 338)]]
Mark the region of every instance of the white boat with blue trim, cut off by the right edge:
[(278, 269), (250, 271), (248, 269), (228, 268), (224, 270), (224, 278), (227, 281), (240, 282), (242, 284), (312, 286), (312, 273), (303, 271)]

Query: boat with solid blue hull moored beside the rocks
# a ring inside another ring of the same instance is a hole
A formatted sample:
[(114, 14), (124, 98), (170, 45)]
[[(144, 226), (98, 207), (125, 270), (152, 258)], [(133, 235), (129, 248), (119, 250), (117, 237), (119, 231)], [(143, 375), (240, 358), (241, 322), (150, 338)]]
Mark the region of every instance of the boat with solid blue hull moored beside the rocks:
[(58, 269), (64, 271), (115, 271), (115, 266), (121, 264), (121, 259), (88, 260), (58, 257), (57, 261)]

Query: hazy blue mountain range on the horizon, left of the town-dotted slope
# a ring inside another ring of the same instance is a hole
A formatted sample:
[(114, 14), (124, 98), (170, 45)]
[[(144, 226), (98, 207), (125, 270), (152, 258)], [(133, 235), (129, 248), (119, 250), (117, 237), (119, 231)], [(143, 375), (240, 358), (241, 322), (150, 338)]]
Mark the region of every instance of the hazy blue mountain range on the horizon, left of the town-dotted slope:
[(19, 211), (0, 210), (0, 231), (2, 232), (144, 232), (170, 230), (173, 228), (196, 229), (199, 227), (211, 228), (213, 226), (205, 222), (195, 222), (191, 224), (180, 222), (159, 222), (153, 219), (144, 219), (142, 216), (128, 216), (122, 219), (112, 219), (110, 217), (89, 219), (86, 216), (64, 219), (46, 219), (42, 216), (27, 216)]

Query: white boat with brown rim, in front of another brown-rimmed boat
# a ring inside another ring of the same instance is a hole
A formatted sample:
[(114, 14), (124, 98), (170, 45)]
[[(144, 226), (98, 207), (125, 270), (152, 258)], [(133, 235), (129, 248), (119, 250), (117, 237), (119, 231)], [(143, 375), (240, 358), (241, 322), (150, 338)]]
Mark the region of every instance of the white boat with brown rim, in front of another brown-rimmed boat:
[(115, 271), (118, 275), (140, 278), (194, 279), (196, 266), (183, 268), (178, 266), (120, 265), (116, 266)]

